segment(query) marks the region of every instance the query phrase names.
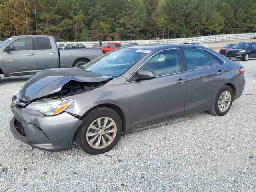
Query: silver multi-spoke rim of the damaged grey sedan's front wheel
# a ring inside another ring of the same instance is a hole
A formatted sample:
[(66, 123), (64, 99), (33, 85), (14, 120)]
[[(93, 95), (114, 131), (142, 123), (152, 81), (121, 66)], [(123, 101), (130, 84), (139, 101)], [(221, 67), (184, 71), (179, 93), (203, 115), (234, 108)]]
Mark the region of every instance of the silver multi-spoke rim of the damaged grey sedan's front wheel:
[(86, 132), (86, 140), (94, 149), (109, 146), (116, 137), (116, 122), (109, 117), (100, 117), (94, 120)]

